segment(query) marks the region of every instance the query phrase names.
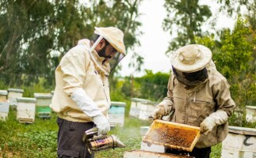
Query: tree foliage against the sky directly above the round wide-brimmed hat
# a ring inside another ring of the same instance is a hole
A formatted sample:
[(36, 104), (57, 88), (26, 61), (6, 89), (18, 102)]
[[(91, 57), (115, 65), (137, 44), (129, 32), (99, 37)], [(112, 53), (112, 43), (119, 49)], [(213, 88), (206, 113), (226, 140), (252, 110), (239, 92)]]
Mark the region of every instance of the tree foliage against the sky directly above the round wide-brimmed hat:
[(166, 53), (195, 43), (195, 36), (202, 36), (201, 25), (212, 16), (209, 6), (200, 6), (198, 0), (166, 0), (164, 7), (167, 17), (163, 21), (163, 29), (170, 35), (174, 35), (174, 32), (178, 34), (170, 42)]

